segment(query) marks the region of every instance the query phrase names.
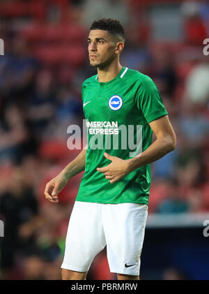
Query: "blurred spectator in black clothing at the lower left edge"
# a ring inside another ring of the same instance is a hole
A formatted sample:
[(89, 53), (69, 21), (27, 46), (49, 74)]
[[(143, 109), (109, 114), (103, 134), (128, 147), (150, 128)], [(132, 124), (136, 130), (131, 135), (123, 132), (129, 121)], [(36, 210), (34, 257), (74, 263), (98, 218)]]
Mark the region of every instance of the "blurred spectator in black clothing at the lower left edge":
[(0, 214), (5, 223), (1, 268), (7, 273), (15, 266), (16, 251), (34, 249), (33, 230), (38, 221), (38, 203), (21, 168), (14, 171), (8, 191), (1, 195)]

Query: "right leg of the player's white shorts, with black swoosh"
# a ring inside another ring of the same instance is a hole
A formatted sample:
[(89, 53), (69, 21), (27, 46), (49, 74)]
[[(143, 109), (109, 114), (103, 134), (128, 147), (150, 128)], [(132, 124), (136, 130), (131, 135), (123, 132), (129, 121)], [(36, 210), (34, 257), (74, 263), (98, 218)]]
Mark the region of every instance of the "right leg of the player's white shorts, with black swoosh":
[(102, 221), (111, 272), (139, 276), (147, 214), (145, 204), (104, 206)]

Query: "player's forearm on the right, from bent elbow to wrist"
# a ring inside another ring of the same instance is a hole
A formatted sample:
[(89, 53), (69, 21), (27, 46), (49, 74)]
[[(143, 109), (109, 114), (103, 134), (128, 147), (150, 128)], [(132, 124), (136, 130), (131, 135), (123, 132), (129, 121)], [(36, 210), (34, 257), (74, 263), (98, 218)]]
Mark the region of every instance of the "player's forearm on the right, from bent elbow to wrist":
[(156, 139), (144, 152), (132, 159), (128, 159), (130, 172), (136, 168), (141, 168), (141, 166), (146, 166), (149, 163), (157, 161), (157, 159), (173, 151), (175, 147), (176, 141), (171, 140), (170, 137)]

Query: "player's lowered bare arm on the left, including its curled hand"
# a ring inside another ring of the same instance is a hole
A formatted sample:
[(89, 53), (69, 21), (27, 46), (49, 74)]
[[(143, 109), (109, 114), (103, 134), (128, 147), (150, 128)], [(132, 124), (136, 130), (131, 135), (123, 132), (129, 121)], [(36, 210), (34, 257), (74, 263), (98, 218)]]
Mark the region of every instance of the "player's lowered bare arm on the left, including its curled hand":
[(59, 175), (54, 177), (54, 179), (51, 179), (51, 181), (46, 184), (45, 197), (49, 201), (53, 203), (58, 203), (58, 194), (68, 183), (69, 179), (85, 169), (86, 149), (87, 145), (84, 147), (82, 152), (80, 152), (78, 156), (68, 164), (68, 166), (65, 166), (65, 168), (61, 170)]

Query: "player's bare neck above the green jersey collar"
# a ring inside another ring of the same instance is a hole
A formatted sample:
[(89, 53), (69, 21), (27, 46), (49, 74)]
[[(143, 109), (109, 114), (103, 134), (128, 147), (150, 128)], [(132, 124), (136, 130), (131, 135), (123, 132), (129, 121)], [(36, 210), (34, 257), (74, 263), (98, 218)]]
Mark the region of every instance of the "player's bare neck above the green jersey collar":
[(109, 64), (105, 68), (98, 68), (98, 81), (99, 82), (109, 82), (116, 78), (118, 73), (120, 73), (123, 66), (121, 64)]

